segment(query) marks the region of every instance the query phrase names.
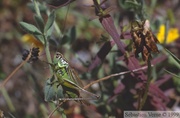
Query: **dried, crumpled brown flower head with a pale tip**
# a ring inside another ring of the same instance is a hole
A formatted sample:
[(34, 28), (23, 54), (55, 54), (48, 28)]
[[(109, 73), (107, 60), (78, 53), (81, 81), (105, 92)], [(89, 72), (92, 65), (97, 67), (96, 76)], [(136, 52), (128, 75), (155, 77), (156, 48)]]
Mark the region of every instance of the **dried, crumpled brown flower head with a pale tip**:
[(151, 58), (151, 52), (159, 52), (156, 46), (157, 38), (150, 30), (150, 23), (145, 21), (134, 21), (131, 24), (131, 36), (134, 42), (135, 55), (142, 54), (144, 61)]

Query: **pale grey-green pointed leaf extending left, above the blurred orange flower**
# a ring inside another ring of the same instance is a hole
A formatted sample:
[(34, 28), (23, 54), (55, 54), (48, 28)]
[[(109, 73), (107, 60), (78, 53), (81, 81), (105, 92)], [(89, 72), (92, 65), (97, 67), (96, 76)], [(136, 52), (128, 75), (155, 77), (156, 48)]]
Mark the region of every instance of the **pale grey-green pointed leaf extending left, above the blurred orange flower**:
[(20, 26), (22, 29), (24, 29), (26, 32), (33, 34), (33, 35), (42, 35), (42, 32), (34, 25), (28, 24), (25, 22), (20, 22)]

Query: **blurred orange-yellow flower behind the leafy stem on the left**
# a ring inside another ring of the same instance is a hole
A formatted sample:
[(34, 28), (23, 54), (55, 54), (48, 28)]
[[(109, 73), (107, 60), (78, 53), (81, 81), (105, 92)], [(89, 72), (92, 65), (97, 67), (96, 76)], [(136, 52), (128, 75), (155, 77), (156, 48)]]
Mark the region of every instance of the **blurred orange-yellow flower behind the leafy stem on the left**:
[(40, 50), (40, 53), (42, 53), (43, 49), (44, 49), (44, 46), (43, 44), (38, 41), (33, 35), (31, 34), (25, 34), (22, 36), (21, 40), (24, 42), (24, 43), (27, 43), (27, 44), (30, 44), (32, 45), (33, 44), (33, 47), (39, 47), (39, 50)]

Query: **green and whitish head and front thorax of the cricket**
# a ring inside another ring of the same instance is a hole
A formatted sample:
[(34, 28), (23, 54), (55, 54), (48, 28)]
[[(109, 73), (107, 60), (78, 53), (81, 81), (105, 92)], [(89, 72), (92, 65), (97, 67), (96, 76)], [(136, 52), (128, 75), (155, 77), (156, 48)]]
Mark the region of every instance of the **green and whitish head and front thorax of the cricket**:
[(59, 67), (69, 66), (67, 60), (60, 52), (56, 52), (54, 57), (54, 63), (58, 64)]

